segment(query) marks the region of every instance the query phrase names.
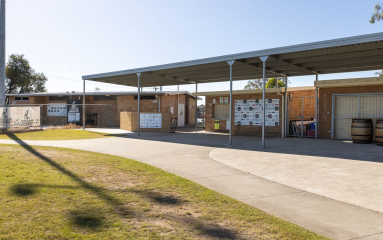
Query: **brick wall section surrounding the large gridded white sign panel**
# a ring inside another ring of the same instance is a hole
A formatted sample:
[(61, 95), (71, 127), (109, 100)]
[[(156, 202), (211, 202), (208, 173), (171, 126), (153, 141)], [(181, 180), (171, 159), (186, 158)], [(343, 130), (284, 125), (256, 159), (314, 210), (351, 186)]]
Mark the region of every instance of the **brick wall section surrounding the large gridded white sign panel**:
[[(282, 96), (278, 94), (266, 94), (266, 99), (279, 99), (280, 106), (282, 106)], [(206, 97), (206, 122), (205, 122), (205, 130), (213, 131), (213, 132), (228, 132), (226, 130), (226, 120), (219, 120), (219, 129), (216, 130), (214, 128), (215, 119), (214, 116), (214, 104), (213, 99), (215, 99), (216, 104), (219, 103), (219, 98), (221, 96), (207, 96)], [(225, 96), (223, 96), (225, 97)], [(246, 94), (246, 95), (233, 95), (233, 103), (235, 100), (249, 100), (249, 99), (262, 99), (262, 95), (260, 94)], [(230, 101), (230, 99), (229, 99)], [(234, 124), (234, 107), (232, 106), (232, 131), (233, 135), (251, 135), (251, 136), (262, 136), (262, 126), (248, 126), (248, 125), (235, 125)], [(282, 135), (282, 108), (279, 108), (279, 126), (266, 126), (265, 128), (266, 137), (280, 137)]]

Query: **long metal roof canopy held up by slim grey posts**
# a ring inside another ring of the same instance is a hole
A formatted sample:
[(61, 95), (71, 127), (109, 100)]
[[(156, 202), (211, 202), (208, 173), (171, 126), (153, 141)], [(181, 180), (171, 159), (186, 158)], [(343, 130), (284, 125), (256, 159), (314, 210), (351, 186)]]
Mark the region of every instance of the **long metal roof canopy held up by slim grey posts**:
[(199, 60), (83, 76), (84, 80), (137, 87), (168, 86), (229, 80), (227, 61), (233, 65), (233, 80), (262, 78), (261, 56), (267, 77), (305, 76), (383, 68), (383, 33), (271, 48)]

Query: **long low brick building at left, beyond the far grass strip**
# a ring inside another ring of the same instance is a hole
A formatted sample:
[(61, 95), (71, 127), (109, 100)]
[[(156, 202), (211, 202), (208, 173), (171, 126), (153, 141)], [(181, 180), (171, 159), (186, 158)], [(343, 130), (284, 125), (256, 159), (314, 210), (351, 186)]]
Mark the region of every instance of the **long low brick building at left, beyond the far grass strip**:
[[(68, 116), (52, 116), (52, 106), (81, 107), (82, 92), (8, 94), (11, 105), (36, 105), (41, 107), (42, 125), (65, 125)], [(137, 92), (86, 92), (85, 114), (87, 124), (103, 127), (120, 127), (121, 112), (137, 112)], [(177, 118), (178, 126), (195, 125), (195, 97), (189, 92), (142, 92), (141, 113), (169, 112), (170, 118)], [(79, 114), (82, 118), (82, 114)], [(94, 119), (91, 121), (91, 119)], [(81, 119), (79, 119), (81, 121)]]

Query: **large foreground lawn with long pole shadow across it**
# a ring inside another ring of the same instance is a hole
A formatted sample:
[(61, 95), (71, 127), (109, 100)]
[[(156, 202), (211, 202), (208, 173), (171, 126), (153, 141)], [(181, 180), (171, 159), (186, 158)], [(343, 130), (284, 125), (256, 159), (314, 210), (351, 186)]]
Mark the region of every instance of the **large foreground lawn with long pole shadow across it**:
[(0, 153), (0, 239), (326, 239), (134, 160), (15, 145)]

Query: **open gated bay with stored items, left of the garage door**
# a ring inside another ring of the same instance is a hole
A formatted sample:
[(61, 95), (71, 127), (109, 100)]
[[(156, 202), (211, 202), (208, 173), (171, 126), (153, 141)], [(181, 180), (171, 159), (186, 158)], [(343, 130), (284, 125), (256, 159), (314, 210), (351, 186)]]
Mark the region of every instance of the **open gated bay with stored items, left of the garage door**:
[(289, 97), (287, 101), (287, 136), (315, 137), (315, 97)]

